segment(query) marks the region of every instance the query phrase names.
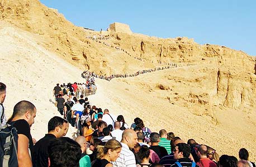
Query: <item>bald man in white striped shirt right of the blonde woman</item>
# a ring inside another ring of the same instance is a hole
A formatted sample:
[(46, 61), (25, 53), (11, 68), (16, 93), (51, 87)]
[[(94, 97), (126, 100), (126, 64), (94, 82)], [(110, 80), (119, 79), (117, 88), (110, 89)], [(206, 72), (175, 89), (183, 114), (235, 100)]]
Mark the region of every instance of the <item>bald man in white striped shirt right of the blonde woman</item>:
[(138, 137), (134, 130), (132, 129), (126, 129), (122, 133), (122, 150), (120, 153), (120, 157), (117, 158), (116, 161), (112, 162), (113, 166), (116, 167), (135, 167), (136, 161), (134, 153), (130, 149), (134, 149), (136, 144), (138, 143)]

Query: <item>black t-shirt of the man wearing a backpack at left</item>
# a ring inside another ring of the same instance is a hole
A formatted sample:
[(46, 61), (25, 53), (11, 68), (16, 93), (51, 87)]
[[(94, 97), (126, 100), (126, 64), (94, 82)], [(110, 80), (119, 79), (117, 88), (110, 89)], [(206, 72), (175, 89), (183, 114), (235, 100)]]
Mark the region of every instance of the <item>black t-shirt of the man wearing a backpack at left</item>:
[(14, 127), (16, 127), (18, 134), (22, 134), (22, 135), (27, 136), (27, 139), (29, 139), (29, 149), (30, 149), (30, 152), (32, 154), (34, 145), (33, 145), (32, 136), (30, 134), (29, 123), (26, 120), (22, 119), (22, 120), (12, 121), (11, 124)]

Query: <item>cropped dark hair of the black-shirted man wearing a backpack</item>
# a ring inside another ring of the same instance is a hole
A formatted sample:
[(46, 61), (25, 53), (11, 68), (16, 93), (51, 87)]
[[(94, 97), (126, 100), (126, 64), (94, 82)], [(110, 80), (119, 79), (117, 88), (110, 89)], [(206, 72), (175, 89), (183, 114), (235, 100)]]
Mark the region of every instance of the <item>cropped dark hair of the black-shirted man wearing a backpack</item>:
[(22, 116), (24, 115), (27, 111), (30, 111), (31, 114), (34, 113), (34, 110), (36, 109), (36, 107), (34, 106), (34, 104), (32, 104), (29, 101), (26, 100), (22, 100), (20, 102), (18, 102), (14, 107), (13, 107), (13, 112), (12, 112), (12, 116), (11, 118), (7, 121), (11, 122), (12, 119), (15, 116)]

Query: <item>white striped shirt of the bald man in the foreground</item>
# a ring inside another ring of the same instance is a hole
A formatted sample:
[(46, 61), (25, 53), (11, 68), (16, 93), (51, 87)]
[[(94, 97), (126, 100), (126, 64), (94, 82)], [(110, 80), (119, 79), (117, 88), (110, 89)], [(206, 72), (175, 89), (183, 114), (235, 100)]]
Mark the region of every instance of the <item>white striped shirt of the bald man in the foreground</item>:
[(136, 167), (136, 161), (135, 161), (135, 156), (134, 153), (129, 149), (129, 147), (121, 143), (122, 145), (122, 150), (120, 153), (120, 157), (117, 158), (116, 161), (113, 161), (112, 164), (114, 167)]

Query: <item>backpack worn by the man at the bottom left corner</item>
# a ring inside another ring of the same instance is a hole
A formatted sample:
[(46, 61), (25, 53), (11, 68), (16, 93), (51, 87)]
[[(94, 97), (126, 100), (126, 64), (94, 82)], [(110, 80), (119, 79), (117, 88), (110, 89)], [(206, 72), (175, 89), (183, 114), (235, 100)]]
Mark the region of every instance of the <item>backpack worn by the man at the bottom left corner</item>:
[(18, 133), (16, 127), (6, 124), (0, 129), (0, 166), (18, 166)]

